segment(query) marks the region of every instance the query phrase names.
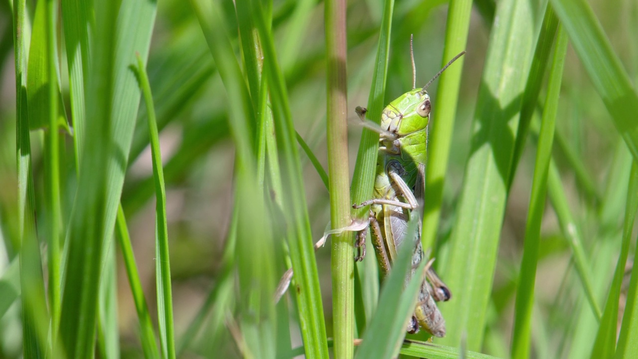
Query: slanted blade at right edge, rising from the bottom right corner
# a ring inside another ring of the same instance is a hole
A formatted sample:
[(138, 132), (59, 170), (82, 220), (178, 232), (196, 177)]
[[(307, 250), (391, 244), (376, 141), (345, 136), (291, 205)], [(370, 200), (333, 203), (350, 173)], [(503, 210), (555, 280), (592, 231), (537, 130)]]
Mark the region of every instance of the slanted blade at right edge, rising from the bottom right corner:
[(612, 358), (616, 349), (616, 332), (618, 328), (618, 300), (625, 274), (625, 264), (629, 254), (629, 245), (634, 228), (636, 210), (638, 209), (638, 165), (633, 162), (632, 172), (627, 191), (627, 204), (625, 205), (625, 224), (623, 225), (623, 243), (621, 247), (614, 279), (609, 289), (605, 312), (598, 326), (598, 333), (591, 358)]

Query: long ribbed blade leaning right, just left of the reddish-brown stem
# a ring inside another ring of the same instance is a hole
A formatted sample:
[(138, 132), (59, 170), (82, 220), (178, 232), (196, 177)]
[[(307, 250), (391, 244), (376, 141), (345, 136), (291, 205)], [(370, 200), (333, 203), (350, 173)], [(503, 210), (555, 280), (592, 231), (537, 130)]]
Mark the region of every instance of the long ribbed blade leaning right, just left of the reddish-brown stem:
[(288, 104), (285, 80), (278, 65), (274, 49), (270, 20), (263, 17), (259, 1), (253, 1), (251, 10), (258, 29), (264, 59), (264, 75), (271, 92), (272, 114), (277, 134), (281, 178), (283, 188), (290, 192), (283, 198), (283, 209), (287, 225), (290, 258), (295, 273), (295, 294), (299, 304), (300, 328), (308, 358), (327, 358), (328, 349), (323, 321), (323, 306), (316, 270), (315, 250), (310, 231), (308, 208), (295, 145), (295, 130)]

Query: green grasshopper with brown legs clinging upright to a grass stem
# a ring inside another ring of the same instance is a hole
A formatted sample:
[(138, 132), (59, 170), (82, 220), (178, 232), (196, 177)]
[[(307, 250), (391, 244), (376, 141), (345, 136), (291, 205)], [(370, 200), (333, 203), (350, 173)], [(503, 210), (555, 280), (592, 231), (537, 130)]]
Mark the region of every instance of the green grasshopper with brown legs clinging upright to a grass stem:
[[(424, 197), (425, 167), (427, 159), (427, 123), (431, 111), (430, 96), (426, 89), (456, 59), (461, 52), (438, 72), (422, 89), (412, 89), (390, 102), (381, 115), (379, 153), (373, 198), (353, 204), (353, 208), (371, 206), (369, 227), (376, 258), (384, 277), (390, 272), (397, 257), (397, 248), (406, 239), (410, 217), (418, 221), (416, 243), (412, 256), (412, 271), (406, 284), (417, 275), (415, 271), (424, 257), (421, 247), (421, 220), (417, 208)], [(359, 118), (365, 123), (366, 109), (357, 107)], [(414, 211), (414, 212), (413, 212)], [(355, 247), (357, 260), (365, 256), (367, 229), (359, 231)], [(419, 326), (436, 337), (445, 336), (445, 319), (435, 301), (446, 301), (452, 296), (436, 272), (427, 266), (427, 280), (419, 291), (415, 312), (408, 323), (408, 333), (416, 333)], [(428, 282), (429, 280), (429, 282)]]

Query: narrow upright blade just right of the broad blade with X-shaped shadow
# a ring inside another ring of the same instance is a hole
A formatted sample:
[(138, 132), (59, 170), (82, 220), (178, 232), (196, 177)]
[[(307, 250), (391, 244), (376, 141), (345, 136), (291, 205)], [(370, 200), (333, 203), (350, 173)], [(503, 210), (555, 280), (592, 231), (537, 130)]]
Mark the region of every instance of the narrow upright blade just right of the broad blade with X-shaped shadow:
[(563, 77), (563, 65), (567, 53), (567, 34), (560, 27), (554, 47), (554, 59), (549, 72), (547, 97), (543, 111), (540, 135), (538, 137), (536, 164), (531, 185), (530, 208), (528, 210), (525, 227), (523, 260), (516, 290), (516, 317), (514, 321), (514, 335), (512, 337), (512, 358), (524, 359), (530, 357), (531, 319), (534, 304), (534, 285), (538, 263), (538, 248), (540, 247), (540, 227), (545, 210), (547, 194), (547, 171), (552, 157), (554, 140), (554, 124), (558, 111), (558, 98)]

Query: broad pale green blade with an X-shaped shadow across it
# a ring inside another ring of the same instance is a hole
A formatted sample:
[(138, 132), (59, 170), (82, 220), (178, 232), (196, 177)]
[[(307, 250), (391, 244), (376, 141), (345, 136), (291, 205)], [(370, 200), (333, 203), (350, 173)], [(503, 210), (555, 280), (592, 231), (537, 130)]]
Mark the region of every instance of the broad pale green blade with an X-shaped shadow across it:
[(450, 254), (441, 270), (455, 293), (442, 308), (450, 328), (441, 339), (446, 345), (458, 346), (463, 332), (470, 350), (479, 350), (483, 340), (514, 134), (535, 40), (530, 13), (535, 12), (527, 1), (501, 1), (497, 6)]

